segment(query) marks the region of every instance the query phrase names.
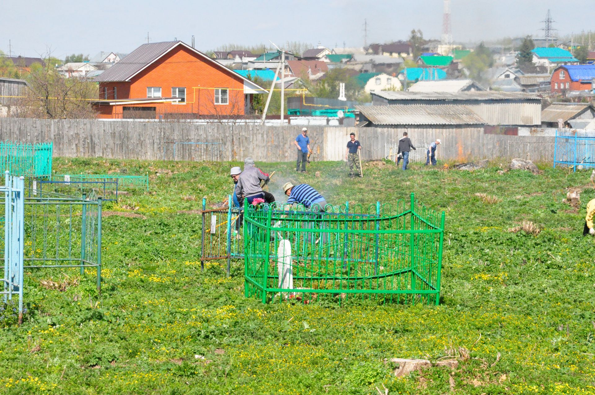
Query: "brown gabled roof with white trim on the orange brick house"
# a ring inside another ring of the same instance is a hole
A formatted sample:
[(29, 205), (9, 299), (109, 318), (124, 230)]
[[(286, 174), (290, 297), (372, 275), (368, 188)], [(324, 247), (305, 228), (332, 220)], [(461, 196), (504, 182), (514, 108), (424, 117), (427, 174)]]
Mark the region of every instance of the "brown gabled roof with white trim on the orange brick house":
[(105, 70), (100, 76), (97, 76), (93, 79), (95, 82), (113, 82), (113, 81), (130, 81), (130, 79), (136, 74), (140, 73), (140, 71), (144, 70), (146, 67), (149, 67), (154, 61), (161, 58), (163, 55), (170, 52), (172, 49), (176, 48), (176, 46), (183, 46), (184, 48), (189, 49), (190, 51), (194, 52), (199, 57), (205, 59), (206, 62), (211, 62), (215, 67), (220, 68), (224, 71), (227, 71), (231, 74), (236, 74), (242, 80), (250, 83), (251, 85), (255, 86), (257, 90), (263, 90), (264, 88), (256, 85), (249, 79), (244, 76), (240, 76), (235, 71), (230, 70), (227, 67), (224, 67), (219, 62), (215, 61), (200, 51), (192, 48), (191, 46), (187, 45), (181, 41), (164, 41), (164, 42), (155, 42), (155, 43), (148, 43), (139, 46), (139, 48), (134, 49), (134, 51), (130, 52), (124, 58), (114, 64), (112, 67)]

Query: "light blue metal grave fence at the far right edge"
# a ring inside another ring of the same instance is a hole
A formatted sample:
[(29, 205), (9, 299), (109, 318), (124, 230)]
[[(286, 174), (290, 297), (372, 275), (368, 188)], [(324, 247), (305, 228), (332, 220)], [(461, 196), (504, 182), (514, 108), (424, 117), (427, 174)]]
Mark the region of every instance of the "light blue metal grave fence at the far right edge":
[(595, 167), (595, 133), (585, 130), (556, 130), (554, 168), (556, 165), (577, 168)]

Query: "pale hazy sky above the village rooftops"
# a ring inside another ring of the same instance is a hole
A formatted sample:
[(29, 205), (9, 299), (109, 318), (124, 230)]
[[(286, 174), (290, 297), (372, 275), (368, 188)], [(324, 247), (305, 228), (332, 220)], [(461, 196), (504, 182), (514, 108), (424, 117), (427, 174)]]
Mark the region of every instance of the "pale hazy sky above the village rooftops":
[[(283, 6), (289, 7), (283, 7)], [(559, 35), (593, 27), (593, 0), (452, 0), (456, 41), (539, 36), (548, 8)], [(2, 0), (0, 50), (64, 58), (73, 52), (130, 52), (146, 43), (173, 40), (206, 51), (226, 43), (280, 45), (287, 40), (333, 47), (406, 39), (411, 29), (439, 38), (442, 0), (163, 1)]]

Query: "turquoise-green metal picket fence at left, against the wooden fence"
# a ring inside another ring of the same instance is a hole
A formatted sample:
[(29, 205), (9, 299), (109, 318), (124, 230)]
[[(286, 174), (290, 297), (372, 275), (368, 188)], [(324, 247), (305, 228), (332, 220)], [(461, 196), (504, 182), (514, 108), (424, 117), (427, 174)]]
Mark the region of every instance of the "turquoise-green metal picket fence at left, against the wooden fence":
[(0, 142), (0, 170), (11, 175), (49, 178), (52, 175), (52, 142)]

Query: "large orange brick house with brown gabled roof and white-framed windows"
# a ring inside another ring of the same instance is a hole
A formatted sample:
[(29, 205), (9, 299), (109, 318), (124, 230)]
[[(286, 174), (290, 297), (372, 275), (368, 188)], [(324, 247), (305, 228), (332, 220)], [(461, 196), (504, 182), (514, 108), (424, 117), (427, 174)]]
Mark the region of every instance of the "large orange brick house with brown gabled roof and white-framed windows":
[(93, 80), (99, 118), (241, 117), (265, 93), (181, 41), (143, 44)]

